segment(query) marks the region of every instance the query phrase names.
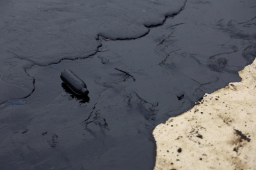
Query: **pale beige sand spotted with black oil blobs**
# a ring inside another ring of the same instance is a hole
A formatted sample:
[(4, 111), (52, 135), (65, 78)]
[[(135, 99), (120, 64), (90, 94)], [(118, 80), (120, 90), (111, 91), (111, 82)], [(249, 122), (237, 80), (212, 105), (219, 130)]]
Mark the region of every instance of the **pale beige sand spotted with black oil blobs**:
[(188, 112), (157, 125), (154, 169), (255, 169), (256, 60), (239, 75), (241, 82), (205, 94)]

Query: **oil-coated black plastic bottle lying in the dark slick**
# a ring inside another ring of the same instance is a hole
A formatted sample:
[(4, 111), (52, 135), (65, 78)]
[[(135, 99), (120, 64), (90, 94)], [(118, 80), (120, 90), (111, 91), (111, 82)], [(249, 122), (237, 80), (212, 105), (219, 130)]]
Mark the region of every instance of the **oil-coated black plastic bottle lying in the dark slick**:
[(86, 84), (71, 70), (65, 69), (61, 72), (60, 78), (77, 95), (89, 94)]

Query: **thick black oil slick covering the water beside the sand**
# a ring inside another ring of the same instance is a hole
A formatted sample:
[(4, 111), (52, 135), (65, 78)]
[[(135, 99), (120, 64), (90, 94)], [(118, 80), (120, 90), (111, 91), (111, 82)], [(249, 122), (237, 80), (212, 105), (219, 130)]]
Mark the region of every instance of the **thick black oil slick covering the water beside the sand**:
[(0, 169), (152, 169), (154, 127), (255, 58), (255, 1), (185, 2), (1, 1)]

